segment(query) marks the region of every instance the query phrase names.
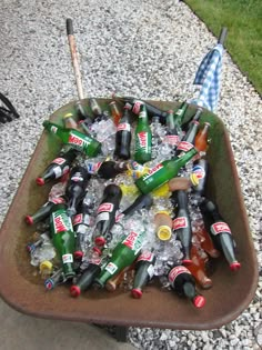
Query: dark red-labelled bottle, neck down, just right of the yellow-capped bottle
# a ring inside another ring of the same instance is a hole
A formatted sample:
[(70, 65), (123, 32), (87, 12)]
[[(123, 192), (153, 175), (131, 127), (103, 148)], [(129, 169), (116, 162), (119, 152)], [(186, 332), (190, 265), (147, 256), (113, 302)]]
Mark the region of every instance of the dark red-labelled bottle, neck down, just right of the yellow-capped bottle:
[(179, 190), (174, 192), (174, 196), (178, 203), (178, 211), (175, 219), (173, 220), (173, 230), (181, 241), (184, 253), (182, 262), (185, 264), (191, 262), (190, 250), (192, 240), (192, 229), (188, 209), (188, 193), (185, 191)]

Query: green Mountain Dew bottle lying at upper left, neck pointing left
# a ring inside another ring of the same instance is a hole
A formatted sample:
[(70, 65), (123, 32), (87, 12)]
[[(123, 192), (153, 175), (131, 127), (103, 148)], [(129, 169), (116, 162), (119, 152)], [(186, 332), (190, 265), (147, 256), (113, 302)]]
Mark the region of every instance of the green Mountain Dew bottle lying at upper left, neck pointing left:
[(48, 131), (56, 133), (63, 143), (70, 144), (89, 157), (98, 156), (101, 150), (101, 143), (98, 140), (78, 130), (66, 129), (48, 120), (44, 120), (43, 127)]

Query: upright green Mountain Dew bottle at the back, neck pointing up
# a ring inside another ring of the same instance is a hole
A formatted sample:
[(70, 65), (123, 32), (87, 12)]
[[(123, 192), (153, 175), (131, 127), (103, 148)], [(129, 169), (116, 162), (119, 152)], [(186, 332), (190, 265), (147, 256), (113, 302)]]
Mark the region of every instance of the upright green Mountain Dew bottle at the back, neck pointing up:
[(144, 104), (140, 106), (139, 120), (135, 128), (134, 160), (140, 164), (151, 160), (152, 132)]

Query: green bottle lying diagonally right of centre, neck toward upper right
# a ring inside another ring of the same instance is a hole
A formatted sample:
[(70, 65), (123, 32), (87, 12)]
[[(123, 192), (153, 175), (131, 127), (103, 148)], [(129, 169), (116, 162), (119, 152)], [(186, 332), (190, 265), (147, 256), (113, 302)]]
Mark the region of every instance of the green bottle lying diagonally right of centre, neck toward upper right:
[(135, 180), (135, 186), (143, 194), (153, 191), (172, 178), (177, 177), (179, 170), (198, 151), (195, 148), (192, 148), (181, 157), (162, 161), (154, 168), (150, 169), (148, 173)]

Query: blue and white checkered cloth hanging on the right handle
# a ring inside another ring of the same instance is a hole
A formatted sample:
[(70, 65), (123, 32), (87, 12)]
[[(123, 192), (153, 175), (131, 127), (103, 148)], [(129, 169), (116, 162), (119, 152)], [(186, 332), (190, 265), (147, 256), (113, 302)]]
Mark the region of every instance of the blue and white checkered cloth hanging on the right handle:
[(214, 112), (218, 107), (221, 71), (222, 71), (223, 47), (218, 43), (202, 60), (193, 84), (202, 86), (198, 100), (193, 103), (204, 107)]

